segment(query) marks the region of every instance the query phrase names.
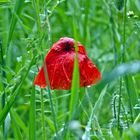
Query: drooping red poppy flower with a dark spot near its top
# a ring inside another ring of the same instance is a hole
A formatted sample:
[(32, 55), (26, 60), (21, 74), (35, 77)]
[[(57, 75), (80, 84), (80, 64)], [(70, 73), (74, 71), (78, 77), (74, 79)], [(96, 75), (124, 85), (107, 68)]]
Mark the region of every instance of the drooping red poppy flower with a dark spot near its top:
[[(64, 37), (57, 41), (47, 54), (45, 64), (51, 89), (70, 89), (74, 68), (74, 39)], [(78, 63), (80, 87), (95, 84), (101, 79), (98, 68), (88, 58), (85, 48), (78, 42)], [(41, 88), (46, 87), (44, 66), (40, 69), (34, 81)]]

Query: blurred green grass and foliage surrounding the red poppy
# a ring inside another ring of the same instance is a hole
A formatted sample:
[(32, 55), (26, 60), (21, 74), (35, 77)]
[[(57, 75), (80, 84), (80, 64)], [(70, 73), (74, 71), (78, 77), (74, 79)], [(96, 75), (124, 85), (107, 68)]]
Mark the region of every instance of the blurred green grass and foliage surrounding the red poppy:
[[(97, 85), (80, 89), (84, 95), (78, 102), (77, 120), (69, 125), (70, 91), (51, 91), (58, 139), (85, 140), (85, 132), (89, 132), (89, 139), (140, 139), (139, 0), (0, 1), (0, 118), (5, 120), (0, 126), (0, 139), (55, 137), (48, 91), (43, 90), (41, 98), (41, 91), (33, 88), (33, 81), (52, 44), (64, 36), (75, 37), (73, 21), (76, 38), (85, 46), (103, 78)], [(125, 62), (122, 62), (124, 47)], [(107, 84), (105, 96), (100, 100)], [(98, 115), (94, 113), (90, 118), (99, 102)], [(33, 120), (31, 113), (36, 114)], [(87, 127), (89, 120), (91, 124)], [(29, 130), (32, 127), (35, 133)]]

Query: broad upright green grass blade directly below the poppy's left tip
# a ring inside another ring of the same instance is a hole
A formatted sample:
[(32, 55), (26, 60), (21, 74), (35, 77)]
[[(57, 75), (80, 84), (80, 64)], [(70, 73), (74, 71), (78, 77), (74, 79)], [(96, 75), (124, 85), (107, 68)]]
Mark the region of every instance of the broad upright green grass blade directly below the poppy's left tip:
[(35, 129), (36, 129), (36, 102), (35, 102), (35, 87), (33, 86), (33, 90), (30, 97), (30, 114), (29, 114), (29, 139), (35, 140)]

